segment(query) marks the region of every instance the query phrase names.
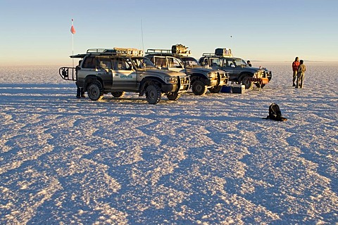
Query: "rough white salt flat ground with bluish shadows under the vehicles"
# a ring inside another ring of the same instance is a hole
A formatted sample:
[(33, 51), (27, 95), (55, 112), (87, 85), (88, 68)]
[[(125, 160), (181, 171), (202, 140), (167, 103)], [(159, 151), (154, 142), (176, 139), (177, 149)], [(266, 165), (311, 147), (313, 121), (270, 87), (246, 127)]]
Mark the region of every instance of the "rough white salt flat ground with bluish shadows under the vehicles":
[(337, 64), (306, 63), (304, 89), (261, 65), (262, 91), (157, 105), (0, 67), (0, 224), (337, 223)]

